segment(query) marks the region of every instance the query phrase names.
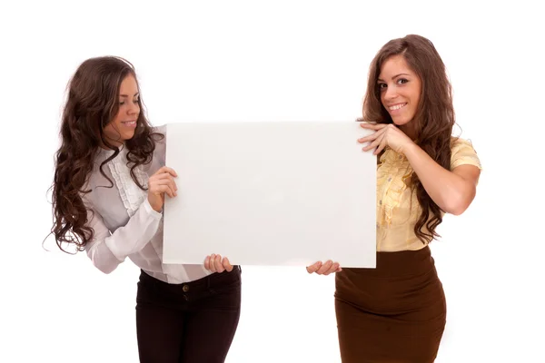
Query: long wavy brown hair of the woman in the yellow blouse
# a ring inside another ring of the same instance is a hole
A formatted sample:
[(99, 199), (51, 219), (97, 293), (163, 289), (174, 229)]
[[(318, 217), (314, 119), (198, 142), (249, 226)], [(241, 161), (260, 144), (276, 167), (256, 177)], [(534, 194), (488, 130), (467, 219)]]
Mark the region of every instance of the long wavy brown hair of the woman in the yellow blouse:
[[(451, 170), (452, 129), (455, 125), (451, 83), (445, 64), (430, 40), (410, 34), (392, 39), (382, 46), (370, 66), (367, 93), (363, 100), (363, 119), (374, 123), (393, 123), (390, 113), (381, 103), (377, 80), (382, 64), (391, 56), (400, 54), (421, 80), (420, 103), (411, 121), (417, 132), (415, 142), (431, 159)], [(412, 172), (409, 183), (421, 205), (421, 215), (414, 225), (414, 233), (423, 243), (431, 242), (441, 237), (435, 231), (442, 222), (441, 208), (431, 200), (415, 172)]]

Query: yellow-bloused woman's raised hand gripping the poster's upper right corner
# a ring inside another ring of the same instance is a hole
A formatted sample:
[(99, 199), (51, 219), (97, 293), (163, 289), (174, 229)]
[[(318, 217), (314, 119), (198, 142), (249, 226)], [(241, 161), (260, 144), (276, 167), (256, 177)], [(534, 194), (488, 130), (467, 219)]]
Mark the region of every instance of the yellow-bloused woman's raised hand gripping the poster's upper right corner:
[(390, 146), (394, 152), (404, 153), (407, 147), (414, 142), (392, 123), (360, 123), (362, 128), (374, 130), (371, 135), (358, 139), (358, 142), (370, 142), (369, 145), (363, 147), (363, 151), (367, 152), (376, 148), (373, 154), (378, 155), (386, 146)]

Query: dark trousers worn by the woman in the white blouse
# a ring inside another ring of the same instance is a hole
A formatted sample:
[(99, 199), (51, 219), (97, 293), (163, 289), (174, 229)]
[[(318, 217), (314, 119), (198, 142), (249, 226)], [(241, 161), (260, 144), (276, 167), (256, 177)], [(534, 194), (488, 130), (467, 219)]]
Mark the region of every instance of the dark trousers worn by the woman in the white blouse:
[(241, 312), (241, 269), (168, 284), (141, 272), (136, 333), (142, 363), (223, 363)]

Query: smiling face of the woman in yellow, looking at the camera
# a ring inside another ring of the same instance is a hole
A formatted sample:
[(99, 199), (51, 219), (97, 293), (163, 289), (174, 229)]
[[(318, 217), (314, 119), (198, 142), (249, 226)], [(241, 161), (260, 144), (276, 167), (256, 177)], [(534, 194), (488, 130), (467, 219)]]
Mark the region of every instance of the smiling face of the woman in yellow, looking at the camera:
[[(381, 67), (377, 84), (381, 92), (381, 103), (390, 113), (393, 123), (408, 129), (418, 110), (421, 99), (421, 79), (415, 74), (405, 58), (393, 55)], [(406, 132), (407, 133), (407, 132)]]

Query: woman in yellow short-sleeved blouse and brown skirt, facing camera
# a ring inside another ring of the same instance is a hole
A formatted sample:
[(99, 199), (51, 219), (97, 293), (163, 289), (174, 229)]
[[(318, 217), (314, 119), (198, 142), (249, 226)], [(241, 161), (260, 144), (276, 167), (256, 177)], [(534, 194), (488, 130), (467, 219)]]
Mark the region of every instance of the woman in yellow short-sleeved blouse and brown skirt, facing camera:
[(452, 136), (451, 84), (431, 42), (407, 35), (372, 61), (363, 102), (363, 151), (378, 157), (377, 266), (307, 270), (335, 277), (343, 363), (433, 362), (446, 301), (428, 244), (444, 213), (473, 201), (481, 162), (471, 142)]

